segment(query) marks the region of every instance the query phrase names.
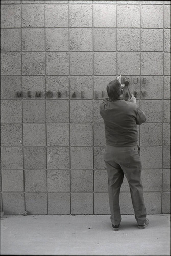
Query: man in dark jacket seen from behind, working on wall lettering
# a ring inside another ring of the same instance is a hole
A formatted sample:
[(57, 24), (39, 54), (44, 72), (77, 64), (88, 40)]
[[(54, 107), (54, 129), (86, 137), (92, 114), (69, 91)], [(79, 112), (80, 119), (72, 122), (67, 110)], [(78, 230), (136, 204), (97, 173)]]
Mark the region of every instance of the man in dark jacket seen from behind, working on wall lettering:
[(100, 114), (105, 123), (106, 151), (104, 161), (108, 173), (108, 193), (112, 227), (119, 230), (121, 215), (119, 207), (120, 187), (126, 176), (129, 186), (135, 219), (139, 229), (149, 224), (141, 182), (141, 160), (137, 146), (137, 124), (146, 121), (143, 111), (136, 105), (132, 95), (129, 101), (123, 99), (121, 83), (116, 79), (107, 86), (109, 99), (100, 105)]

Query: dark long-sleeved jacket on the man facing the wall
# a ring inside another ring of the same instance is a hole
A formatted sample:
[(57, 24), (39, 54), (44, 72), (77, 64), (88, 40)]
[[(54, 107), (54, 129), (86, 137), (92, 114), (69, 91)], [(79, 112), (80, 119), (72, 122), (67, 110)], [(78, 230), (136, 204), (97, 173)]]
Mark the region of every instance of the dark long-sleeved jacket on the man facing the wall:
[(106, 144), (117, 147), (136, 146), (137, 124), (146, 121), (146, 116), (135, 103), (123, 98), (111, 101), (104, 99), (100, 114), (105, 123)]

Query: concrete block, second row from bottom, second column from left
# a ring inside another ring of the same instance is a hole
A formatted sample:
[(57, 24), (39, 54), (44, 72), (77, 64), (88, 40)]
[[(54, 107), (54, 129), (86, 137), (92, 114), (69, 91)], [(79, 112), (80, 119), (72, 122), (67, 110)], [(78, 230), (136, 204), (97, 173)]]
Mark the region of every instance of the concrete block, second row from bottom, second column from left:
[(25, 191), (46, 192), (46, 170), (25, 170)]

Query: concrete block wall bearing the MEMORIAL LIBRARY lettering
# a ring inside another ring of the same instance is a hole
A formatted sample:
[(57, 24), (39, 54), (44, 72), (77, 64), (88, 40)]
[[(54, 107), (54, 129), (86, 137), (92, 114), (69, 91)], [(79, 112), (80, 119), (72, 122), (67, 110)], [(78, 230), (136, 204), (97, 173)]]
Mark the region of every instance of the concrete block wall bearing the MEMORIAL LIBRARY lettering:
[(1, 0), (1, 52), (1, 211), (109, 214), (99, 104), (121, 74), (148, 213), (170, 212), (170, 1)]

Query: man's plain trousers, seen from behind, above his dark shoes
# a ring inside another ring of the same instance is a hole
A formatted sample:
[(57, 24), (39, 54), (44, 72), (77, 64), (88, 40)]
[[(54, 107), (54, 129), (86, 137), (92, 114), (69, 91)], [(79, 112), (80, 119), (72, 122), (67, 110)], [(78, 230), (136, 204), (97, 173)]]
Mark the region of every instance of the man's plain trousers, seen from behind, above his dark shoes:
[(144, 224), (146, 208), (141, 181), (139, 147), (114, 147), (107, 145), (104, 161), (108, 173), (108, 193), (112, 224), (118, 225), (121, 222), (119, 194), (124, 175), (129, 183), (135, 219), (138, 225)]

